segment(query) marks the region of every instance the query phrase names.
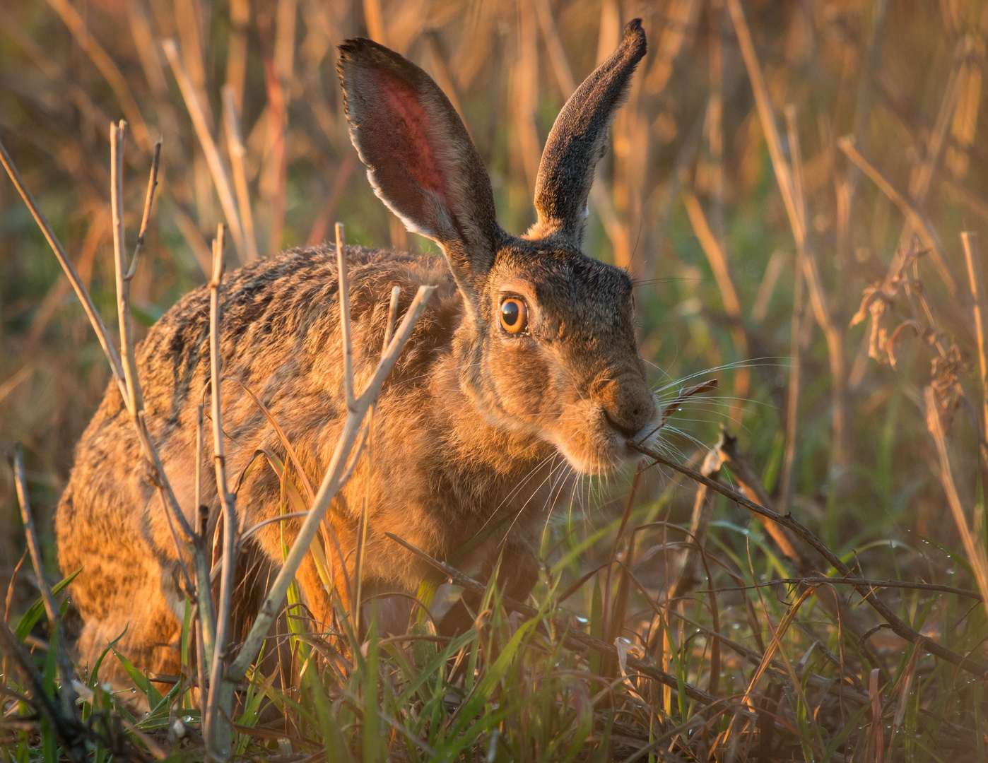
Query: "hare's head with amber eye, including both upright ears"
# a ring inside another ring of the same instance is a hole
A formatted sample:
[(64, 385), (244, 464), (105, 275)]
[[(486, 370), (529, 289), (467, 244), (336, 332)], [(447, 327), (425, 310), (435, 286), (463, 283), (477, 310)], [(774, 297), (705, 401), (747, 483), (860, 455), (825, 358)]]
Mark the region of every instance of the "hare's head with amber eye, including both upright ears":
[(608, 126), (645, 54), (639, 20), (556, 118), (535, 183), (537, 222), (498, 225), (483, 163), (422, 69), (368, 39), (340, 47), (350, 134), (376, 194), (442, 247), (463, 296), (460, 384), (488, 420), (602, 473), (658, 428), (634, 337), (631, 279), (580, 252)]

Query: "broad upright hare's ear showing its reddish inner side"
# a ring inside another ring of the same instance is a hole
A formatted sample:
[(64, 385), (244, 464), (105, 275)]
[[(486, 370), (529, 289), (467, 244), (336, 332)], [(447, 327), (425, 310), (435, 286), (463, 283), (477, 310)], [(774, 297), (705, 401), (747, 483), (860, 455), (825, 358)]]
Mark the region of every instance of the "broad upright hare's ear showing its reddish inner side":
[(350, 138), (377, 196), (437, 242), (457, 280), (490, 269), (502, 232), (490, 179), (450, 100), (411, 61), (370, 39), (340, 45)]

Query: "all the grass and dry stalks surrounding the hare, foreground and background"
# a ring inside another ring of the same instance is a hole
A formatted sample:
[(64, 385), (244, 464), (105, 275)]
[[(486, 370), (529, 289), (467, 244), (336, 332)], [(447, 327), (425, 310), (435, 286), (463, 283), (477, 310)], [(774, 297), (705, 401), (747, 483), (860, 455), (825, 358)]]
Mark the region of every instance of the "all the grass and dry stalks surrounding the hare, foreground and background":
[[(330, 647), (289, 619), (298, 690), (248, 675), (239, 754), (985, 759), (983, 2), (13, 2), (0, 6), (0, 139), (115, 324), (107, 126), (132, 131), (130, 231), (162, 138), (125, 281), (139, 339), (209, 278), (217, 223), (241, 262), (320, 241), (337, 219), (351, 241), (430, 251), (358, 172), (334, 71), (343, 38), (370, 34), (432, 74), (491, 169), (502, 223), (521, 231), (552, 118), (633, 15), (650, 50), (585, 250), (639, 281), (641, 351), (678, 409), (653, 454), (666, 465), (557, 506), (530, 601), (460, 578), (486, 591), (484, 615), (453, 643), (420, 623), (364, 645), (344, 628)], [(0, 267), (0, 448), (24, 443), (21, 493), (50, 572), (50, 514), (109, 369), (6, 181)], [(712, 377), (717, 391), (682, 395)], [(201, 758), (191, 665), (164, 698), (136, 666), (146, 717), (78, 666), (73, 738), (89, 746), (54, 734), (74, 706), (52, 687), (72, 668), (42, 622), (51, 603), (31, 606), (38, 578), (14, 572), (22, 512), (14, 473), (0, 474), (0, 570), (23, 645), (4, 643), (3, 691), (35, 697), (0, 700), (0, 754)], [(8, 672), (29, 649), (34, 686)]]

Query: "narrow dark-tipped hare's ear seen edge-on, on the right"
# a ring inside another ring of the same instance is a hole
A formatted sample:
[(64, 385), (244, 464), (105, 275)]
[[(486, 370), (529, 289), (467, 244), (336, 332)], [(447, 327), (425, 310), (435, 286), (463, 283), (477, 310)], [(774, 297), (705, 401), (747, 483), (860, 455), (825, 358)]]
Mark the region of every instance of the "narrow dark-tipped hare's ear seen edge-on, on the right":
[(624, 27), (624, 38), (604, 63), (570, 96), (545, 141), (535, 179), (538, 221), (528, 237), (562, 234), (583, 240), (587, 196), (594, 168), (606, 149), (608, 126), (627, 94), (634, 67), (645, 55), (641, 19)]

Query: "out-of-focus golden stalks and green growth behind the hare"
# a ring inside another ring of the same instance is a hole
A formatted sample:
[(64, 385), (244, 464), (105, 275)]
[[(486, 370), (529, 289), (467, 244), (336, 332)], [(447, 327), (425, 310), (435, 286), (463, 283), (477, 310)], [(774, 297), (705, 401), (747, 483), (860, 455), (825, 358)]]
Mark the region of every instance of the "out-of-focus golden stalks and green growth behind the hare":
[[(0, 137), (108, 325), (109, 125), (130, 124), (131, 237), (151, 148), (163, 140), (131, 287), (150, 325), (205, 282), (207, 242), (230, 206), (244, 229), (234, 262), (318, 243), (336, 220), (351, 242), (435, 253), (365, 179), (335, 72), (344, 38), (377, 39), (435, 78), (490, 170), (502, 225), (520, 233), (534, 221), (535, 172), (555, 114), (641, 16), (649, 51), (598, 169), (584, 250), (637, 279), (641, 353), (667, 397), (688, 377), (720, 381), (716, 395), (683, 406), (670, 448), (699, 465), (726, 426), (776, 506), (864, 576), (973, 586), (924, 388), (933, 385), (949, 425), (959, 499), (983, 546), (984, 390), (960, 233), (988, 220), (979, 122), (988, 4), (745, 0), (744, 9), (805, 208), (802, 254), (724, 0), (6, 0)], [(190, 118), (190, 93), (221, 172)], [(25, 444), (50, 538), (74, 443), (109, 374), (5, 178), (0, 268), (0, 450)], [(865, 296), (864, 320), (852, 325)], [(23, 540), (9, 471), (0, 483), (4, 582)], [(599, 486), (565, 521), (581, 537), (612, 527), (627, 485)], [(646, 473), (642, 517), (687, 523), (694, 491), (675, 487)], [(711, 536), (745, 559), (747, 514), (726, 499), (716, 506)], [(606, 561), (610, 542), (586, 547), (573, 579)], [(659, 575), (649, 567), (657, 558), (641, 563), (643, 579)], [(25, 600), (36, 595), (25, 587)], [(926, 627), (943, 635), (959, 622), (947, 610)], [(983, 613), (971, 618), (980, 620), (966, 643), (983, 651)], [(902, 648), (886, 634), (871, 637), (875, 649)]]

